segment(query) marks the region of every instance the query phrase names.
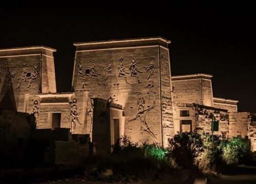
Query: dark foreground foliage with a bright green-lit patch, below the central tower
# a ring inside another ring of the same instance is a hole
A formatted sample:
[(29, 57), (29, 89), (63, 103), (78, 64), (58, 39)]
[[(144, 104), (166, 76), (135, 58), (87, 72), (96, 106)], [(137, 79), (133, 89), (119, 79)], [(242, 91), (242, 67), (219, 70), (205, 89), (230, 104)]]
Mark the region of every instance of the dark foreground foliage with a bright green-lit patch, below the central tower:
[[(172, 154), (158, 144), (133, 143), (129, 137), (123, 136), (113, 146), (110, 157), (95, 157), (90, 159), (98, 173), (104, 169), (112, 169), (115, 176), (125, 178), (155, 178), (157, 173), (167, 173), (177, 165)], [(113, 178), (112, 178), (113, 179)]]

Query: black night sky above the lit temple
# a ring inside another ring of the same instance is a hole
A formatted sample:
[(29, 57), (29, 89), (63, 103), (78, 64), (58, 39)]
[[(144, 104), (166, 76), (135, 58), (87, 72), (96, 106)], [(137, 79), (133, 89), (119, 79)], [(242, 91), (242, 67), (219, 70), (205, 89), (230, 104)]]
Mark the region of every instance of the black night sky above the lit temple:
[(252, 4), (82, 2), (87, 1), (1, 4), (0, 49), (32, 45), (56, 49), (57, 91), (64, 92), (71, 88), (74, 42), (162, 36), (172, 40), (172, 75), (211, 74), (215, 97), (239, 100), (239, 111), (256, 112)]

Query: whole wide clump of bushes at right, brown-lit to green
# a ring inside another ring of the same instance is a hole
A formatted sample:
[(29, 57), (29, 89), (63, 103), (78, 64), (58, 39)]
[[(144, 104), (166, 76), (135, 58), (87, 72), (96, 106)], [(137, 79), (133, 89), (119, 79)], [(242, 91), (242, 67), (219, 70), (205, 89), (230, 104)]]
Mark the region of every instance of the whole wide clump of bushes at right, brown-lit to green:
[(202, 172), (216, 171), (223, 164), (242, 164), (249, 154), (249, 145), (241, 138), (222, 141), (220, 136), (208, 133), (179, 133), (169, 145), (178, 165)]

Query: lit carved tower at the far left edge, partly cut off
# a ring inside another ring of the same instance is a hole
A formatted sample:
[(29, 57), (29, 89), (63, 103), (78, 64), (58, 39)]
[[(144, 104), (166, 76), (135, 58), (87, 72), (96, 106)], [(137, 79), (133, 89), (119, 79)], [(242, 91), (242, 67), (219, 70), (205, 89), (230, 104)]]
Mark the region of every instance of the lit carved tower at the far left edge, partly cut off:
[[(17, 111), (26, 112), (26, 94), (56, 93), (53, 52), (43, 47), (24, 47), (0, 50), (0, 90), (8, 81), (11, 69)], [(0, 97), (0, 101), (3, 97)]]

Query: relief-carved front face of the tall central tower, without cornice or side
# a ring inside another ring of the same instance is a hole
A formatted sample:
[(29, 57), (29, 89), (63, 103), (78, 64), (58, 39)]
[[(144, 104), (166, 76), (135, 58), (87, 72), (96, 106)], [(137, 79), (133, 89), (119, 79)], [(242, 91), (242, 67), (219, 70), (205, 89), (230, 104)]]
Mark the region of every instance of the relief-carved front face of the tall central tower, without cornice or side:
[[(162, 144), (159, 58), (158, 46), (77, 51), (73, 88), (88, 90), (91, 98), (109, 99), (122, 105), (124, 132), (132, 141), (139, 140), (143, 122), (137, 115), (138, 108), (143, 108), (146, 116), (142, 119), (154, 135), (143, 131), (141, 141)], [(132, 70), (137, 71), (138, 77), (132, 75)], [(84, 77), (79, 71), (84, 71)]]

